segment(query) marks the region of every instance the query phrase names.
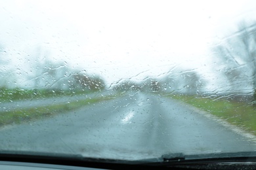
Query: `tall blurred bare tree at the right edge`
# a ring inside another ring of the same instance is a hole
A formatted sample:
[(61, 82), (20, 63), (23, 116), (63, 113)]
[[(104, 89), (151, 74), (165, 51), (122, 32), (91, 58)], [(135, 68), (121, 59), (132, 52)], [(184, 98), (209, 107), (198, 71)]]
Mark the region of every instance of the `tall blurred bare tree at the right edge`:
[(221, 71), (233, 90), (248, 84), (252, 86), (253, 105), (256, 106), (256, 22), (241, 22), (238, 31), (213, 50), (223, 63)]

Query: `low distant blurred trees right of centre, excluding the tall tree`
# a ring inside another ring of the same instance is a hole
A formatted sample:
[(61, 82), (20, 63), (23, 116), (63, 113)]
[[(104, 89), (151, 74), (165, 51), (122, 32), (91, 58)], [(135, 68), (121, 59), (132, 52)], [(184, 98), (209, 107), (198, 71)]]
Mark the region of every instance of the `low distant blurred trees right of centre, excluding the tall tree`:
[(196, 71), (177, 69), (167, 75), (156, 78), (147, 77), (142, 81), (123, 80), (113, 87), (114, 90), (131, 92), (202, 94), (205, 80)]

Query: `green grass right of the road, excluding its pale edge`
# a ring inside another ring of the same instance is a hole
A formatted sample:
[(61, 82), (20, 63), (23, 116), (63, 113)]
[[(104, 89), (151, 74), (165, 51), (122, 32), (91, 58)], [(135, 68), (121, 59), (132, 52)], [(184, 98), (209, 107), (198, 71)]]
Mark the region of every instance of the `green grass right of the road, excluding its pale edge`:
[(169, 95), (169, 97), (205, 110), (230, 124), (242, 127), (256, 135), (256, 109), (248, 103), (188, 95)]

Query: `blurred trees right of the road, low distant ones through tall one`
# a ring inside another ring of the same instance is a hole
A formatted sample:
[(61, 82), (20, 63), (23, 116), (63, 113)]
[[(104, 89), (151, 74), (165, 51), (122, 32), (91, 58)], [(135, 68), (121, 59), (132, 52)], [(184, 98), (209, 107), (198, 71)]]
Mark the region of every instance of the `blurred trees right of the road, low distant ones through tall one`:
[[(161, 78), (145, 78), (141, 82), (131, 79), (117, 84), (115, 90), (167, 92), (250, 101), (256, 106), (256, 22), (240, 22), (237, 31), (213, 47), (213, 72), (224, 80), (223, 86), (207, 91), (207, 82), (196, 70), (177, 69)], [(211, 82), (211, 80), (208, 80)], [(214, 83), (214, 82), (212, 82)], [(215, 85), (214, 85), (215, 86)], [(219, 86), (219, 85), (218, 85)], [(216, 86), (217, 87), (217, 86)]]

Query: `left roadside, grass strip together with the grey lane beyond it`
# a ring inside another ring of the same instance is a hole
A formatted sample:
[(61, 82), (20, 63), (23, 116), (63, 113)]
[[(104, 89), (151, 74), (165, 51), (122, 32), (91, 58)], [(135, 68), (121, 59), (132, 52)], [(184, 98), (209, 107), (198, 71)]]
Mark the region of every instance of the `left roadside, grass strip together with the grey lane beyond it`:
[(30, 101), (13, 101), (2, 103), (0, 109), (0, 126), (20, 124), (32, 120), (47, 118), (56, 114), (75, 111), (87, 105), (93, 105), (100, 101), (114, 99), (118, 94), (91, 93), (90, 95), (74, 95), (65, 97), (53, 97)]

